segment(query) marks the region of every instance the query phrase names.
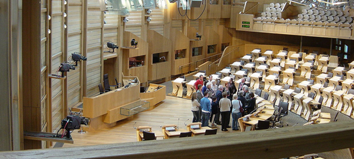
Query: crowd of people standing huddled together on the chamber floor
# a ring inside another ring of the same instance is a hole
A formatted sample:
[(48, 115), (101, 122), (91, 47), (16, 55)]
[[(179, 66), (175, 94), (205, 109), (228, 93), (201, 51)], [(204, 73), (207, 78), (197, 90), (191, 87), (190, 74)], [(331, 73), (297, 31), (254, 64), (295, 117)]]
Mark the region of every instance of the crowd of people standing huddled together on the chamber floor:
[(203, 75), (200, 75), (194, 85), (197, 92), (192, 94), (193, 122), (209, 126), (210, 120), (211, 126), (216, 126), (216, 123), (222, 126), (222, 131), (227, 131), (231, 127), (231, 116), (232, 130), (238, 130), (238, 119), (256, 109), (256, 99), (245, 83), (246, 78), (242, 78), (238, 89), (232, 78), (225, 86), (217, 86), (211, 75), (209, 80), (203, 80)]

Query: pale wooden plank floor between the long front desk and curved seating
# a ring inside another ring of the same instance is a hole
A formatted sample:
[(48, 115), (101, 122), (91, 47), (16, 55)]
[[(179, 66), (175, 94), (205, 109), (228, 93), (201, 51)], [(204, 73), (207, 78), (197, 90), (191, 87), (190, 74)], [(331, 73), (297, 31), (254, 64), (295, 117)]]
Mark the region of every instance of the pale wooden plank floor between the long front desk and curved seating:
[[(64, 144), (63, 147), (137, 142), (137, 135), (133, 128), (135, 122), (135, 127), (149, 125), (152, 126), (152, 130), (161, 131), (160, 126), (178, 124), (179, 119), (179, 127), (186, 129), (184, 122), (186, 121), (185, 123), (189, 124), (192, 123), (193, 119), (191, 108), (192, 104), (189, 99), (166, 96), (166, 99), (155, 105), (154, 109), (118, 121), (114, 127), (87, 132), (86, 134), (79, 134), (77, 130), (74, 130), (71, 134), (74, 144)], [(217, 129), (217, 134), (240, 132), (233, 131), (231, 128), (226, 132), (221, 131), (221, 125), (217, 125)]]

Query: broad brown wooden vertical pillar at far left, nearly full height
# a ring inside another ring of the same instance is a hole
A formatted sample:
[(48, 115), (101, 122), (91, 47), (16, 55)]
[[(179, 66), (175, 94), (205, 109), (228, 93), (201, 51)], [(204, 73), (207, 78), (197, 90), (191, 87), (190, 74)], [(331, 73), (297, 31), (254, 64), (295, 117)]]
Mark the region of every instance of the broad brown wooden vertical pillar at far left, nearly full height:
[[(40, 98), (40, 13), (38, 0), (23, 3), (22, 16), (22, 54), (23, 66), (23, 130), (41, 131), (41, 98)], [(4, 30), (4, 29), (2, 29)], [(3, 59), (3, 58), (2, 58)], [(4, 58), (5, 59), (5, 58)], [(2, 85), (7, 86), (7, 85)], [(5, 102), (5, 101), (3, 101)], [(4, 134), (2, 134), (4, 136)], [(4, 141), (2, 142), (4, 143)], [(3, 145), (3, 144), (2, 144)], [(24, 149), (42, 148), (41, 141), (24, 140)]]

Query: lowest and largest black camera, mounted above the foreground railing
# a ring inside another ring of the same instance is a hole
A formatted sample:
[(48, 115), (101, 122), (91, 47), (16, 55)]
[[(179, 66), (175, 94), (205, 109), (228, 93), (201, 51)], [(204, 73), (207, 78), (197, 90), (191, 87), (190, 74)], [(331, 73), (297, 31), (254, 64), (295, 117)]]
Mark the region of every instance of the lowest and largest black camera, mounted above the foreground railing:
[[(60, 129), (63, 129), (63, 131), (65, 131), (66, 139), (71, 139), (70, 130), (79, 129), (81, 124), (87, 125), (88, 123), (89, 123), (89, 119), (85, 117), (79, 117), (77, 115), (69, 115), (62, 120), (62, 127)], [(60, 130), (58, 130), (58, 133), (59, 131)], [(58, 137), (58, 133), (57, 133), (57, 137)], [(62, 135), (62, 138), (63, 137), (64, 137), (64, 133)]]

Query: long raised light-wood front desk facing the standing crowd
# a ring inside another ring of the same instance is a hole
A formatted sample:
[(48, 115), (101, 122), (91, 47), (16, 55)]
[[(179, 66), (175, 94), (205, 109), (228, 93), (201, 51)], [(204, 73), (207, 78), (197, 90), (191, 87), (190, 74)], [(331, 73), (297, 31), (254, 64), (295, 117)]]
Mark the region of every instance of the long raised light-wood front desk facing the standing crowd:
[[(142, 103), (144, 101), (140, 99), (138, 77), (122, 76), (122, 82), (125, 85), (124, 87), (94, 97), (84, 97), (83, 114), (85, 117), (90, 118), (91, 121), (88, 129), (85, 127), (86, 130), (91, 131), (115, 126), (116, 121), (133, 115), (124, 114), (124, 111), (130, 108), (133, 109), (134, 105), (144, 105), (139, 110), (142, 110), (142, 108), (144, 110), (149, 109), (149, 104)], [(135, 111), (138, 111), (138, 109), (135, 109)]]

